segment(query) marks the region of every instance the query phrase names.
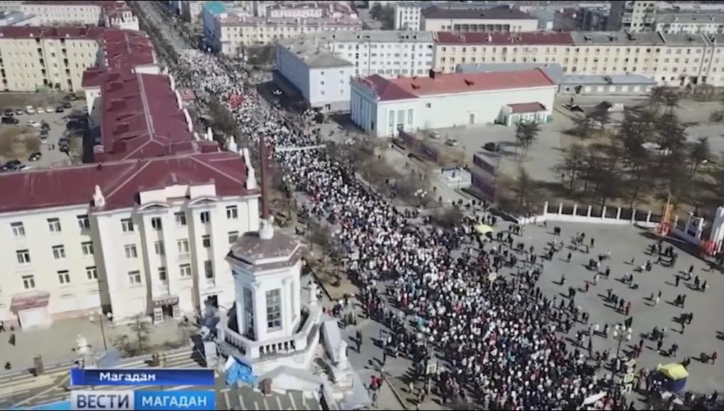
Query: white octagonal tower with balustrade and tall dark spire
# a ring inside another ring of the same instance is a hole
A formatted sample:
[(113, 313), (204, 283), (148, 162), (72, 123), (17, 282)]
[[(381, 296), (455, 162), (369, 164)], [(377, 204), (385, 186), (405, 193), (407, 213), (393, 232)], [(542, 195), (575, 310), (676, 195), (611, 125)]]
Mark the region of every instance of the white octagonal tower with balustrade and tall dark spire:
[(275, 233), (271, 225), (263, 140), (259, 148), (261, 227), (231, 246), (227, 261), (235, 281), (235, 308), (221, 313), (216, 326), (219, 347), (256, 376), (280, 366), (307, 370), (319, 345), (322, 314), (316, 296), (302, 301), (303, 246), (287, 234)]

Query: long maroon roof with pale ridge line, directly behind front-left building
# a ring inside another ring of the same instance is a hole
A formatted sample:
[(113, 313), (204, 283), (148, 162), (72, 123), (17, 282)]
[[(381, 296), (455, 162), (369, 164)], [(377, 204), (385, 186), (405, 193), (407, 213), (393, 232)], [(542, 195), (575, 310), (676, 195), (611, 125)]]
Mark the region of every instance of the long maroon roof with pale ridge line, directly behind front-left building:
[(165, 156), (193, 140), (167, 76), (111, 72), (107, 80), (101, 86), (103, 149), (96, 161)]

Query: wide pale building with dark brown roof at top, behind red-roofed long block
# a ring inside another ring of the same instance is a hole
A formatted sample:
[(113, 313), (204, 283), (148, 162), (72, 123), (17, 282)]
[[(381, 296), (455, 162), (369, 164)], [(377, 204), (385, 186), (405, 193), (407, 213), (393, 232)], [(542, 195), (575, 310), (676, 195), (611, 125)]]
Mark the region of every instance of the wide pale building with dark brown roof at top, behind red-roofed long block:
[(510, 6), (487, 9), (427, 7), (422, 10), (421, 30), (427, 31), (502, 31), (521, 32), (538, 29), (538, 20)]

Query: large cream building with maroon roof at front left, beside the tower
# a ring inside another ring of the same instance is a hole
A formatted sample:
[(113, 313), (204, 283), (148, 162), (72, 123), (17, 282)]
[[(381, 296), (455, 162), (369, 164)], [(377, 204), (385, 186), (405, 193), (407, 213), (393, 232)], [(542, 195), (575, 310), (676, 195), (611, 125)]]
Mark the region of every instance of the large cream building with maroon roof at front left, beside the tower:
[(163, 321), (230, 307), (224, 258), (258, 229), (247, 179), (235, 153), (1, 174), (15, 194), (0, 200), (0, 319), (31, 329), (99, 308)]

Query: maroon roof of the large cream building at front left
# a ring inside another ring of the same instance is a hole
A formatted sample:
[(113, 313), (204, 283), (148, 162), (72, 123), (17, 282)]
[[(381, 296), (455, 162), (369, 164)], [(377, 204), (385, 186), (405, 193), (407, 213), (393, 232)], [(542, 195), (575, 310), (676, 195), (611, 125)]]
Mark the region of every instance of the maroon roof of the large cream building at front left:
[(0, 196), (0, 213), (88, 205), (96, 185), (106, 198), (104, 210), (135, 206), (138, 192), (174, 184), (213, 182), (219, 196), (254, 194), (245, 179), (243, 158), (229, 152), (10, 171), (0, 174), (0, 192), (13, 193)]

